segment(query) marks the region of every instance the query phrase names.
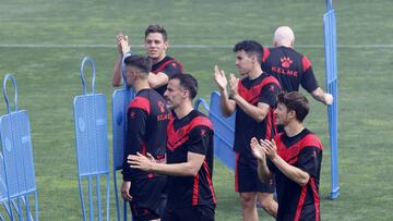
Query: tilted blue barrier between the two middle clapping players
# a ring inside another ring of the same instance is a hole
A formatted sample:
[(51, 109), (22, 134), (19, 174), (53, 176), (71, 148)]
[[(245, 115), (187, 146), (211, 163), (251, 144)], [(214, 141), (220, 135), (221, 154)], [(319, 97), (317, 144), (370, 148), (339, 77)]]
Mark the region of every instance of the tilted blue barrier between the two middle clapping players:
[(233, 150), (233, 145), (235, 138), (236, 113), (229, 118), (225, 118), (221, 111), (219, 97), (219, 93), (213, 91), (211, 94), (210, 106), (207, 106), (205, 100), (200, 98), (195, 102), (195, 109), (202, 105), (209, 111), (209, 119), (212, 121), (214, 128), (214, 156), (231, 171), (235, 171), (236, 155)]

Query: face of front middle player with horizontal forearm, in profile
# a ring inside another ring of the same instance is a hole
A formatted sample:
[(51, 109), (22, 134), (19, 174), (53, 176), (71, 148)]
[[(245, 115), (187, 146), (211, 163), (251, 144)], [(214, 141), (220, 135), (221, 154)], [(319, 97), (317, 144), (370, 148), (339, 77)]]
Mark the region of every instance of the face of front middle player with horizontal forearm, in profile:
[(167, 89), (164, 93), (164, 97), (167, 100), (167, 108), (177, 109), (180, 107), (184, 99), (187, 99), (186, 90), (180, 86), (179, 79), (170, 79), (168, 82)]

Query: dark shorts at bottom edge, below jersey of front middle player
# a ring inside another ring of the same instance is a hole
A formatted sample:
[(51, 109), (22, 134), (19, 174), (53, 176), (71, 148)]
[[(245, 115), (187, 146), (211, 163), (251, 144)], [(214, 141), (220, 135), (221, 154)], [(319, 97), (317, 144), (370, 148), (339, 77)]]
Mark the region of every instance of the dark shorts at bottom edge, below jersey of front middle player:
[(166, 208), (162, 221), (214, 221), (214, 205)]

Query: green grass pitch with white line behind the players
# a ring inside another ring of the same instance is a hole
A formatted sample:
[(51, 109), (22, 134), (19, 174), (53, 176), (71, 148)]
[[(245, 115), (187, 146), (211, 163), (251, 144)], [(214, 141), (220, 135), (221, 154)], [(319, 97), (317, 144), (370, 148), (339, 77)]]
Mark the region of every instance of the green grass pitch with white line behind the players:
[[(333, 8), (338, 35), (341, 184), (334, 201), (329, 199), (326, 109), (310, 96), (311, 113), (306, 121), (325, 146), (322, 220), (392, 220), (393, 2), (333, 1)], [(199, 96), (209, 98), (215, 89), (214, 64), (236, 72), (234, 44), (255, 39), (270, 46), (274, 29), (289, 25), (296, 48), (310, 58), (325, 88), (324, 10), (324, 1), (306, 0), (0, 0), (0, 78), (14, 74), (19, 107), (29, 113), (40, 220), (82, 219), (72, 100), (82, 94), (79, 65), (84, 56), (94, 59), (96, 90), (107, 97), (111, 149), (110, 77), (117, 33), (128, 34), (131, 44), (140, 46), (148, 24), (166, 26), (172, 45), (168, 54), (199, 79)], [(143, 53), (141, 47), (134, 50)], [(5, 113), (3, 100), (0, 113)], [(216, 220), (240, 220), (233, 173), (218, 160), (214, 172)], [(114, 201), (110, 216), (114, 220)], [(260, 218), (273, 220), (262, 210)]]

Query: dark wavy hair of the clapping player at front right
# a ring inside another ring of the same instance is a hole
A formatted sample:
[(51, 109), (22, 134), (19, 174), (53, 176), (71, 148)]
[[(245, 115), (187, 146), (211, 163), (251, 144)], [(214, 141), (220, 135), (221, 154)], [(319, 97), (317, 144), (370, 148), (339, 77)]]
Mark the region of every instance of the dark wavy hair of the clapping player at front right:
[(279, 93), (278, 103), (296, 112), (296, 119), (301, 123), (310, 111), (307, 98), (299, 91)]

